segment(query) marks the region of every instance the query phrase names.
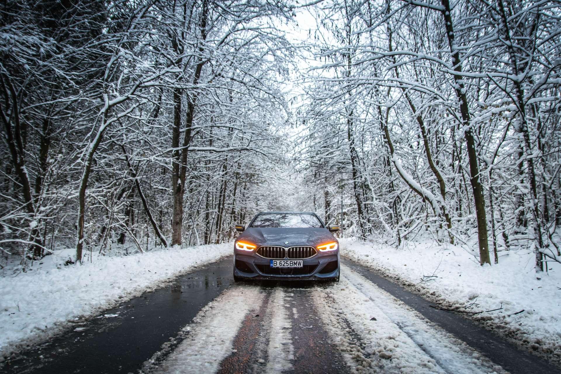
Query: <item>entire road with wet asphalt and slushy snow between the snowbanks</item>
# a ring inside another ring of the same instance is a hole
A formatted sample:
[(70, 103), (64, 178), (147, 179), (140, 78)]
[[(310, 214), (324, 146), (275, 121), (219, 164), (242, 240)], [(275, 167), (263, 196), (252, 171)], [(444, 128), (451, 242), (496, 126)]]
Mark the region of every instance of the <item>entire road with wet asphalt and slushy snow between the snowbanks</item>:
[(78, 322), (0, 372), (560, 372), (348, 260), (339, 283), (234, 284), (231, 264)]

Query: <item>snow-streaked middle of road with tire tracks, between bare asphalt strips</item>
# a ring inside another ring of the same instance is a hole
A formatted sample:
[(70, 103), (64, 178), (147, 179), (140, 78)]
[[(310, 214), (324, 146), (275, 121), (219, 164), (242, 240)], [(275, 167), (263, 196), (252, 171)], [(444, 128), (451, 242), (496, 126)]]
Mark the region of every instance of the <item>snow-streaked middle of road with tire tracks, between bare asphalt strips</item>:
[(349, 267), (342, 271), (339, 284), (231, 287), (154, 372), (504, 372)]

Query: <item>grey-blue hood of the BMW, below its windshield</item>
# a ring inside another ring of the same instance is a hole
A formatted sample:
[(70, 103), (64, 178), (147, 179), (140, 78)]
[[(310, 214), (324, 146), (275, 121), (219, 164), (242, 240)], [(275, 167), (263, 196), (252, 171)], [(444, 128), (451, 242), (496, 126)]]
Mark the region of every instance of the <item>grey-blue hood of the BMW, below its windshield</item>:
[[(257, 246), (319, 246), (337, 241), (325, 228), (257, 228), (246, 229), (238, 240), (245, 240)], [(285, 244), (284, 242), (288, 242)]]

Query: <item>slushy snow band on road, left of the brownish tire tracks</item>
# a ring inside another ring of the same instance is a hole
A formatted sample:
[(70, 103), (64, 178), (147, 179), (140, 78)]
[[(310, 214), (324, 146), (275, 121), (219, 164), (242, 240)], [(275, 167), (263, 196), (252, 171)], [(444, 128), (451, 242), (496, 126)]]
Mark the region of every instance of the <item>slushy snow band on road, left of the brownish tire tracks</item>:
[(207, 304), (183, 330), (188, 334), (156, 373), (214, 373), (233, 351), (232, 342), (250, 311), (259, 310), (263, 293), (252, 285), (228, 288)]

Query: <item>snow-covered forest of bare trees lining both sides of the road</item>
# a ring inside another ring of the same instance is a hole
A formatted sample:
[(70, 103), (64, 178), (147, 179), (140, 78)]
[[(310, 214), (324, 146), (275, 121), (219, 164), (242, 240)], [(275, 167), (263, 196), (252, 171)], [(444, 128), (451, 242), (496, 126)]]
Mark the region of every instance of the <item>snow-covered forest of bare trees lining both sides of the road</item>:
[(263, 210), (561, 261), (561, 1), (7, 0), (0, 40), (24, 267), (228, 242)]

